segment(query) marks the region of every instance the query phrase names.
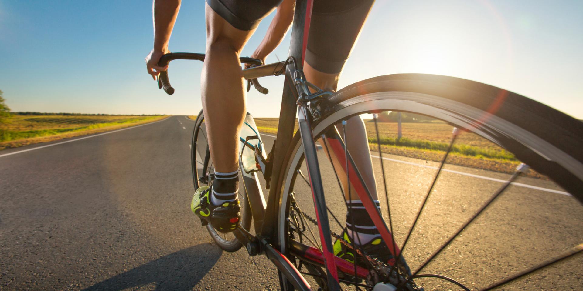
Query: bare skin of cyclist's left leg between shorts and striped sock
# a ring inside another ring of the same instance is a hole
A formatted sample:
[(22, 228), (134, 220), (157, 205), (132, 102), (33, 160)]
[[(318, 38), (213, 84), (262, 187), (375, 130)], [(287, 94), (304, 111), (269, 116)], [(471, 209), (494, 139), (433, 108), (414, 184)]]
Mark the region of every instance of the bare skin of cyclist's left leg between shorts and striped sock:
[(234, 28), (206, 5), (201, 97), (210, 156), (217, 172), (238, 169), (237, 143), (246, 112), (239, 54), (253, 32)]

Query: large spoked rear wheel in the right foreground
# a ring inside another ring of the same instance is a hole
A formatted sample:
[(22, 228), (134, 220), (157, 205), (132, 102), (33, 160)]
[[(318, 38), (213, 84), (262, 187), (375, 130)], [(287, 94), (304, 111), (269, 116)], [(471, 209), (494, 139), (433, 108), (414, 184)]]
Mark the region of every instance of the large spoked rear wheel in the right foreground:
[[(364, 179), (374, 175), (371, 188), (377, 189), (381, 213), (417, 285), (430, 290), (489, 290), (498, 283), (504, 290), (583, 288), (579, 120), (500, 88), (424, 74), (364, 80), (329, 101), (331, 113), (314, 123), (313, 133), (320, 145), (332, 240), (345, 228), (349, 209), (343, 194), (351, 188), (338, 179), (346, 174), (330, 162), (321, 136), (336, 127), (349, 155), (359, 155), (350, 152), (357, 141), (350, 132), (343, 136), (342, 122), (360, 116), (373, 168), (357, 168)], [(398, 112), (409, 121), (400, 139), (391, 122)], [(453, 127), (461, 129), (455, 137)], [(520, 162), (534, 171), (518, 173)], [(318, 250), (320, 242), (305, 172), (296, 134), (279, 182), (278, 242), (301, 272), (324, 285), (321, 264), (305, 255), (306, 247)], [(553, 264), (530, 273), (547, 262)], [(515, 279), (521, 272), (528, 273), (526, 279)], [(347, 289), (377, 283), (370, 276), (340, 275)], [(513, 280), (504, 282), (508, 279)]]

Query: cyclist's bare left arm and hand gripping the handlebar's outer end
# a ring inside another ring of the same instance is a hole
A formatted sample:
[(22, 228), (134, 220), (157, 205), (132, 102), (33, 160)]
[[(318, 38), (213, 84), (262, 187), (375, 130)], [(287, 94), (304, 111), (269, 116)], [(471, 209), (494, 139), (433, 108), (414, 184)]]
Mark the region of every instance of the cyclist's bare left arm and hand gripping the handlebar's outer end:
[(152, 5), (152, 14), (154, 21), (154, 48), (146, 56), (147, 72), (152, 75), (154, 80), (160, 71), (166, 70), (166, 67), (157, 66), (160, 57), (168, 52), (168, 41), (174, 28), (174, 22), (178, 16), (181, 0), (154, 0)]

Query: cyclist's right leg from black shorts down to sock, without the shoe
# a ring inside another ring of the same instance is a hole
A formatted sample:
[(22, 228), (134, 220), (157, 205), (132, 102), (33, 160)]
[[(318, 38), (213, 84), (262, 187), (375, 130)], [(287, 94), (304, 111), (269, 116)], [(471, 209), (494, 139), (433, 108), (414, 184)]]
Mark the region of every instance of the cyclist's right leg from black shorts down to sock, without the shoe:
[[(314, 3), (304, 62), (304, 73), (308, 81), (320, 88), (336, 90), (344, 63), (356, 43), (373, 2), (368, 0)], [(336, 126), (336, 129), (342, 137), (342, 127)], [(373, 199), (377, 200), (366, 128), (359, 116), (347, 120), (346, 138), (351, 141), (347, 143), (347, 149), (359, 168)], [(335, 163), (335, 168), (342, 168), (341, 165), (336, 165), (338, 163), (336, 159), (332, 161)], [(340, 172), (339, 178), (343, 188), (348, 189), (346, 174)], [(350, 191), (345, 190), (346, 200), (358, 200), (355, 194), (352, 187)]]

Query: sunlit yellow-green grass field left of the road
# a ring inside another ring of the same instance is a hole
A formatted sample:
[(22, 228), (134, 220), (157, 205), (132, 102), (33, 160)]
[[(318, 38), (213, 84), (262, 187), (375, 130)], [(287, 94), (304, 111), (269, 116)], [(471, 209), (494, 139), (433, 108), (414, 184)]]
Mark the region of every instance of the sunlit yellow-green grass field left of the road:
[(0, 150), (141, 125), (166, 116), (12, 115), (0, 123)]

